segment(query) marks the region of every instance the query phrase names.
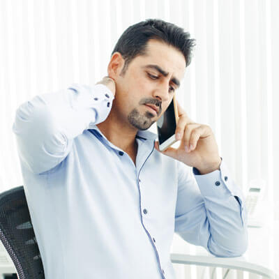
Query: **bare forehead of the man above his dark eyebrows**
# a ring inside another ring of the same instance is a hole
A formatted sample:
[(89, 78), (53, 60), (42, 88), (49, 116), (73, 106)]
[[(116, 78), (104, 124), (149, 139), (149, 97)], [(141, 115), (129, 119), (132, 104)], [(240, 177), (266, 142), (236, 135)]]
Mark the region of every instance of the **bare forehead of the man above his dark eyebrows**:
[(183, 78), (186, 69), (186, 60), (182, 52), (158, 40), (149, 40), (146, 45), (146, 55), (137, 58), (141, 66), (156, 64), (179, 80)]

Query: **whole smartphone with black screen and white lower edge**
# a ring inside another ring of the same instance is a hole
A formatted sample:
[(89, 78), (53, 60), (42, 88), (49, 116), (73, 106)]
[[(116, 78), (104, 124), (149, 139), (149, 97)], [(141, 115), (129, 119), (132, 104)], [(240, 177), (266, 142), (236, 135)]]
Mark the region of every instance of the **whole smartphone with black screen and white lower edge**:
[(179, 119), (176, 105), (176, 97), (172, 98), (172, 102), (167, 110), (157, 120), (159, 150), (165, 151), (169, 146), (177, 142), (175, 138), (176, 124)]

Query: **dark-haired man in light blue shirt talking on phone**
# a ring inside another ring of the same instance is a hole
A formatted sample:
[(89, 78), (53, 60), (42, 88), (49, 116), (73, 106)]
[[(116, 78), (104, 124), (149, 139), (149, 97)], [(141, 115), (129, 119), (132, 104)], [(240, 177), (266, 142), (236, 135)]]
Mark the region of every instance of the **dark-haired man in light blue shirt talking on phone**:
[(193, 45), (174, 24), (140, 22), (96, 85), (18, 108), (13, 131), (47, 279), (174, 278), (174, 232), (216, 256), (246, 251), (243, 195), (211, 128), (178, 104), (178, 149), (158, 151), (146, 131), (179, 88)]

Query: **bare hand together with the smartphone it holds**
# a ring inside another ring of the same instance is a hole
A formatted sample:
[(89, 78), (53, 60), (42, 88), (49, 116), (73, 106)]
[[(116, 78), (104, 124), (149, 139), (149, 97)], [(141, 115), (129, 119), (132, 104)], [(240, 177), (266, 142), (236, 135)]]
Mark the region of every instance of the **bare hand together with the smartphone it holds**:
[[(176, 103), (175, 96), (161, 117), (156, 123), (156, 150), (190, 167), (196, 167), (200, 174), (220, 169), (222, 158), (212, 129), (190, 119), (179, 103)], [(181, 140), (178, 148), (170, 146), (178, 140)]]

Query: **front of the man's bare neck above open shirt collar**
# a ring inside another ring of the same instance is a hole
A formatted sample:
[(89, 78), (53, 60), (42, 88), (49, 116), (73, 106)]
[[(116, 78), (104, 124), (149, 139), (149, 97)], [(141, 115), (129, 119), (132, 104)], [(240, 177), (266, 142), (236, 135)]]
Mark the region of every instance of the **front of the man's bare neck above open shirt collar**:
[(105, 135), (107, 140), (126, 153), (133, 153), (137, 150), (135, 141), (137, 128), (129, 126), (124, 121), (119, 121), (119, 117), (117, 117), (113, 111), (110, 112), (105, 121), (96, 126), (100, 129), (103, 135)]

